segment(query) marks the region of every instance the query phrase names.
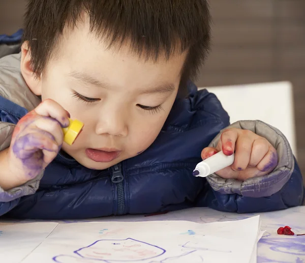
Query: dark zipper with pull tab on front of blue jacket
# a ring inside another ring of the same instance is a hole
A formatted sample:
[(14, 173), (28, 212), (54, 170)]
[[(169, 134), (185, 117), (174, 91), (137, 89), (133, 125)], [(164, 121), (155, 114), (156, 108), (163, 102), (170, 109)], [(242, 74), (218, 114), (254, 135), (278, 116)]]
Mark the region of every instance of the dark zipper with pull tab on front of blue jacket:
[(124, 192), (124, 176), (122, 173), (122, 166), (120, 163), (112, 167), (112, 183), (116, 184), (117, 191), (117, 209), (116, 214), (122, 215), (125, 211), (125, 192)]

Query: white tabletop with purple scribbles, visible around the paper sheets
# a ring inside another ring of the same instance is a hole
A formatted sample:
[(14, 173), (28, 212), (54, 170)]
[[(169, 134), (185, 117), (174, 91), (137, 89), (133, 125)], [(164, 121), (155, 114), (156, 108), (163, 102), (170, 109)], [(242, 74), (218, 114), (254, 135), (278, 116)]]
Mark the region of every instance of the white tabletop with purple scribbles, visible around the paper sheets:
[[(282, 236), (277, 234), (280, 226), (289, 225), (295, 234), (305, 233), (305, 207), (294, 207), (287, 210), (257, 213), (237, 214), (225, 213), (209, 208), (192, 208), (170, 212), (164, 215), (144, 217), (119, 216), (86, 220), (60, 220), (59, 223), (89, 222), (89, 221), (151, 221), (151, 220), (189, 220), (200, 223), (224, 222), (241, 220), (260, 215), (261, 229), (266, 230), (257, 246), (257, 262), (297, 262), (305, 263), (305, 236)], [(1, 220), (1, 223), (37, 222), (34, 220)], [(2, 227), (0, 223), (0, 228)], [(1, 230), (1, 229), (0, 229)], [(17, 252), (18, 253), (18, 252)], [(0, 257), (1, 259), (1, 257)], [(89, 262), (89, 261), (87, 261)], [(253, 261), (255, 262), (255, 261)], [(43, 262), (44, 263), (44, 262)], [(92, 262), (89, 262), (92, 263)], [(97, 263), (96, 260), (93, 263)]]

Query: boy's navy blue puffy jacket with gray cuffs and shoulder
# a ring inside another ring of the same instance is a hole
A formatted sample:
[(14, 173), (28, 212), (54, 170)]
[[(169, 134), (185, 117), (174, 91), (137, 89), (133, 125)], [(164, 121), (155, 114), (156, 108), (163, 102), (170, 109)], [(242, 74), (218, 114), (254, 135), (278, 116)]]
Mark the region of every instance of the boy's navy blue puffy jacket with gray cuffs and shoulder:
[[(276, 147), (279, 164), (245, 182), (192, 176), (203, 148), (217, 142), (229, 116), (214, 94), (189, 83), (189, 97), (176, 99), (155, 142), (142, 154), (106, 170), (91, 170), (60, 153), (23, 186), (0, 189), (0, 215), (33, 219), (78, 219), (154, 213), (202, 206), (227, 212), (265, 212), (298, 206), (302, 176), (283, 134), (259, 121), (234, 127), (254, 130)], [(20, 74), (20, 54), (0, 60), (0, 150), (14, 125), (40, 102)], [(254, 127), (254, 128), (253, 128)], [(264, 135), (261, 134), (261, 135)], [(1, 167), (0, 167), (1, 169)]]

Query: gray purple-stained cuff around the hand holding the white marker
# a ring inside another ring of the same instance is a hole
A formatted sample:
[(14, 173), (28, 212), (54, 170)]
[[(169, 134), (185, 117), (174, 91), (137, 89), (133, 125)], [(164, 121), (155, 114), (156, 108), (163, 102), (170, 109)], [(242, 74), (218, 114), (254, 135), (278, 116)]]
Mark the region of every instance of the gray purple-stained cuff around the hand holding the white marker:
[[(281, 190), (294, 170), (294, 156), (283, 133), (261, 121), (240, 121), (233, 123), (227, 128), (250, 130), (266, 138), (277, 150), (279, 163), (266, 176), (250, 178), (245, 181), (223, 179), (214, 173), (206, 178), (210, 186), (224, 194), (236, 193), (248, 197), (266, 197)], [(220, 136), (221, 133), (211, 141), (209, 146), (216, 147)]]

